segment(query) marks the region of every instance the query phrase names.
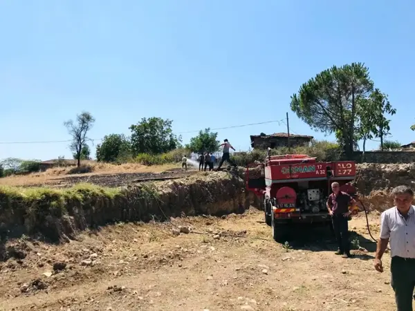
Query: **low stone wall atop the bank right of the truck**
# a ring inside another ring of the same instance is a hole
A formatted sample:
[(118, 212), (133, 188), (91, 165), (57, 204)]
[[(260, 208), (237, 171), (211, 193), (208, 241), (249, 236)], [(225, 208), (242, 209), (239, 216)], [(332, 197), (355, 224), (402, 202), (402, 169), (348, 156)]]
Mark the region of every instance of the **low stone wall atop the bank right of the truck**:
[(355, 151), (354, 159), (358, 163), (413, 163), (414, 151), (366, 151), (365, 160), (362, 161), (362, 151)]

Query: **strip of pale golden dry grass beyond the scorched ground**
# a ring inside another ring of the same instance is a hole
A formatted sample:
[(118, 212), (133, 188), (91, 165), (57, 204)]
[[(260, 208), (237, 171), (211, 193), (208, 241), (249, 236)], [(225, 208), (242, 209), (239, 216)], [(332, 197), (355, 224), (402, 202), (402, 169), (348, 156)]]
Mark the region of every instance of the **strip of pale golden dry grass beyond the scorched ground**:
[[(107, 173), (158, 173), (165, 171), (166, 169), (173, 169), (178, 167), (178, 164), (153, 165), (151, 167), (147, 167), (143, 164), (138, 163), (116, 165), (98, 162), (93, 162), (89, 165), (91, 165), (92, 173), (84, 173), (82, 176)], [(17, 175), (0, 178), (0, 185), (25, 187), (37, 184), (47, 184), (48, 182), (53, 182), (53, 180), (57, 178), (62, 178), (63, 176), (71, 176), (68, 174), (68, 171), (71, 169), (73, 169), (73, 167), (55, 167), (53, 169), (48, 169), (42, 173), (30, 173), (24, 176)]]

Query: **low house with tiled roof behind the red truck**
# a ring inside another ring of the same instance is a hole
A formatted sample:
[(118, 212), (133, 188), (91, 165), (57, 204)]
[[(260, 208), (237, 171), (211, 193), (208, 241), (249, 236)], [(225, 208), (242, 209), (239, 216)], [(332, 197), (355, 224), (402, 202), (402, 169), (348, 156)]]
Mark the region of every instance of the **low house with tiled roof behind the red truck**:
[[(298, 135), (290, 133), (290, 146), (306, 146), (310, 144), (313, 136)], [(251, 147), (254, 149), (271, 149), (278, 147), (288, 147), (288, 133), (273, 133), (266, 135), (261, 133), (260, 135), (250, 135)]]

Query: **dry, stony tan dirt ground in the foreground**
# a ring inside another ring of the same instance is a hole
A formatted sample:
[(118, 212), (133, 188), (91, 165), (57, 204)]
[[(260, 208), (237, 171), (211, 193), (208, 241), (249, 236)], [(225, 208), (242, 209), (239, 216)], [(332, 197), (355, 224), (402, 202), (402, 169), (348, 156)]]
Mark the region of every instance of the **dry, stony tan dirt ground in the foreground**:
[(26, 257), (1, 263), (0, 310), (396, 310), (389, 256), (374, 271), (365, 218), (350, 227), (369, 252), (352, 259), (333, 254), (326, 229), (298, 232), (290, 248), (262, 220), (251, 208), (172, 220), (206, 234), (119, 223), (64, 245), (21, 238), (12, 245)]

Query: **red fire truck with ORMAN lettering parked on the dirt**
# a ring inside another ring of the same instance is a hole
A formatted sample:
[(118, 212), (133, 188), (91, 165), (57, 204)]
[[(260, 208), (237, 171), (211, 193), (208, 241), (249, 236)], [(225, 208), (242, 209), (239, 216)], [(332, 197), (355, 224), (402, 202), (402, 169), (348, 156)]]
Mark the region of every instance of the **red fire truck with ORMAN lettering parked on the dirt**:
[[(317, 162), (304, 154), (268, 156), (263, 163), (246, 167), (246, 189), (253, 191), (264, 209), (265, 221), (273, 228), (276, 241), (294, 223), (330, 224), (326, 200), (331, 183), (356, 197), (349, 185), (356, 176), (353, 161)], [(357, 214), (357, 206), (350, 207)]]

